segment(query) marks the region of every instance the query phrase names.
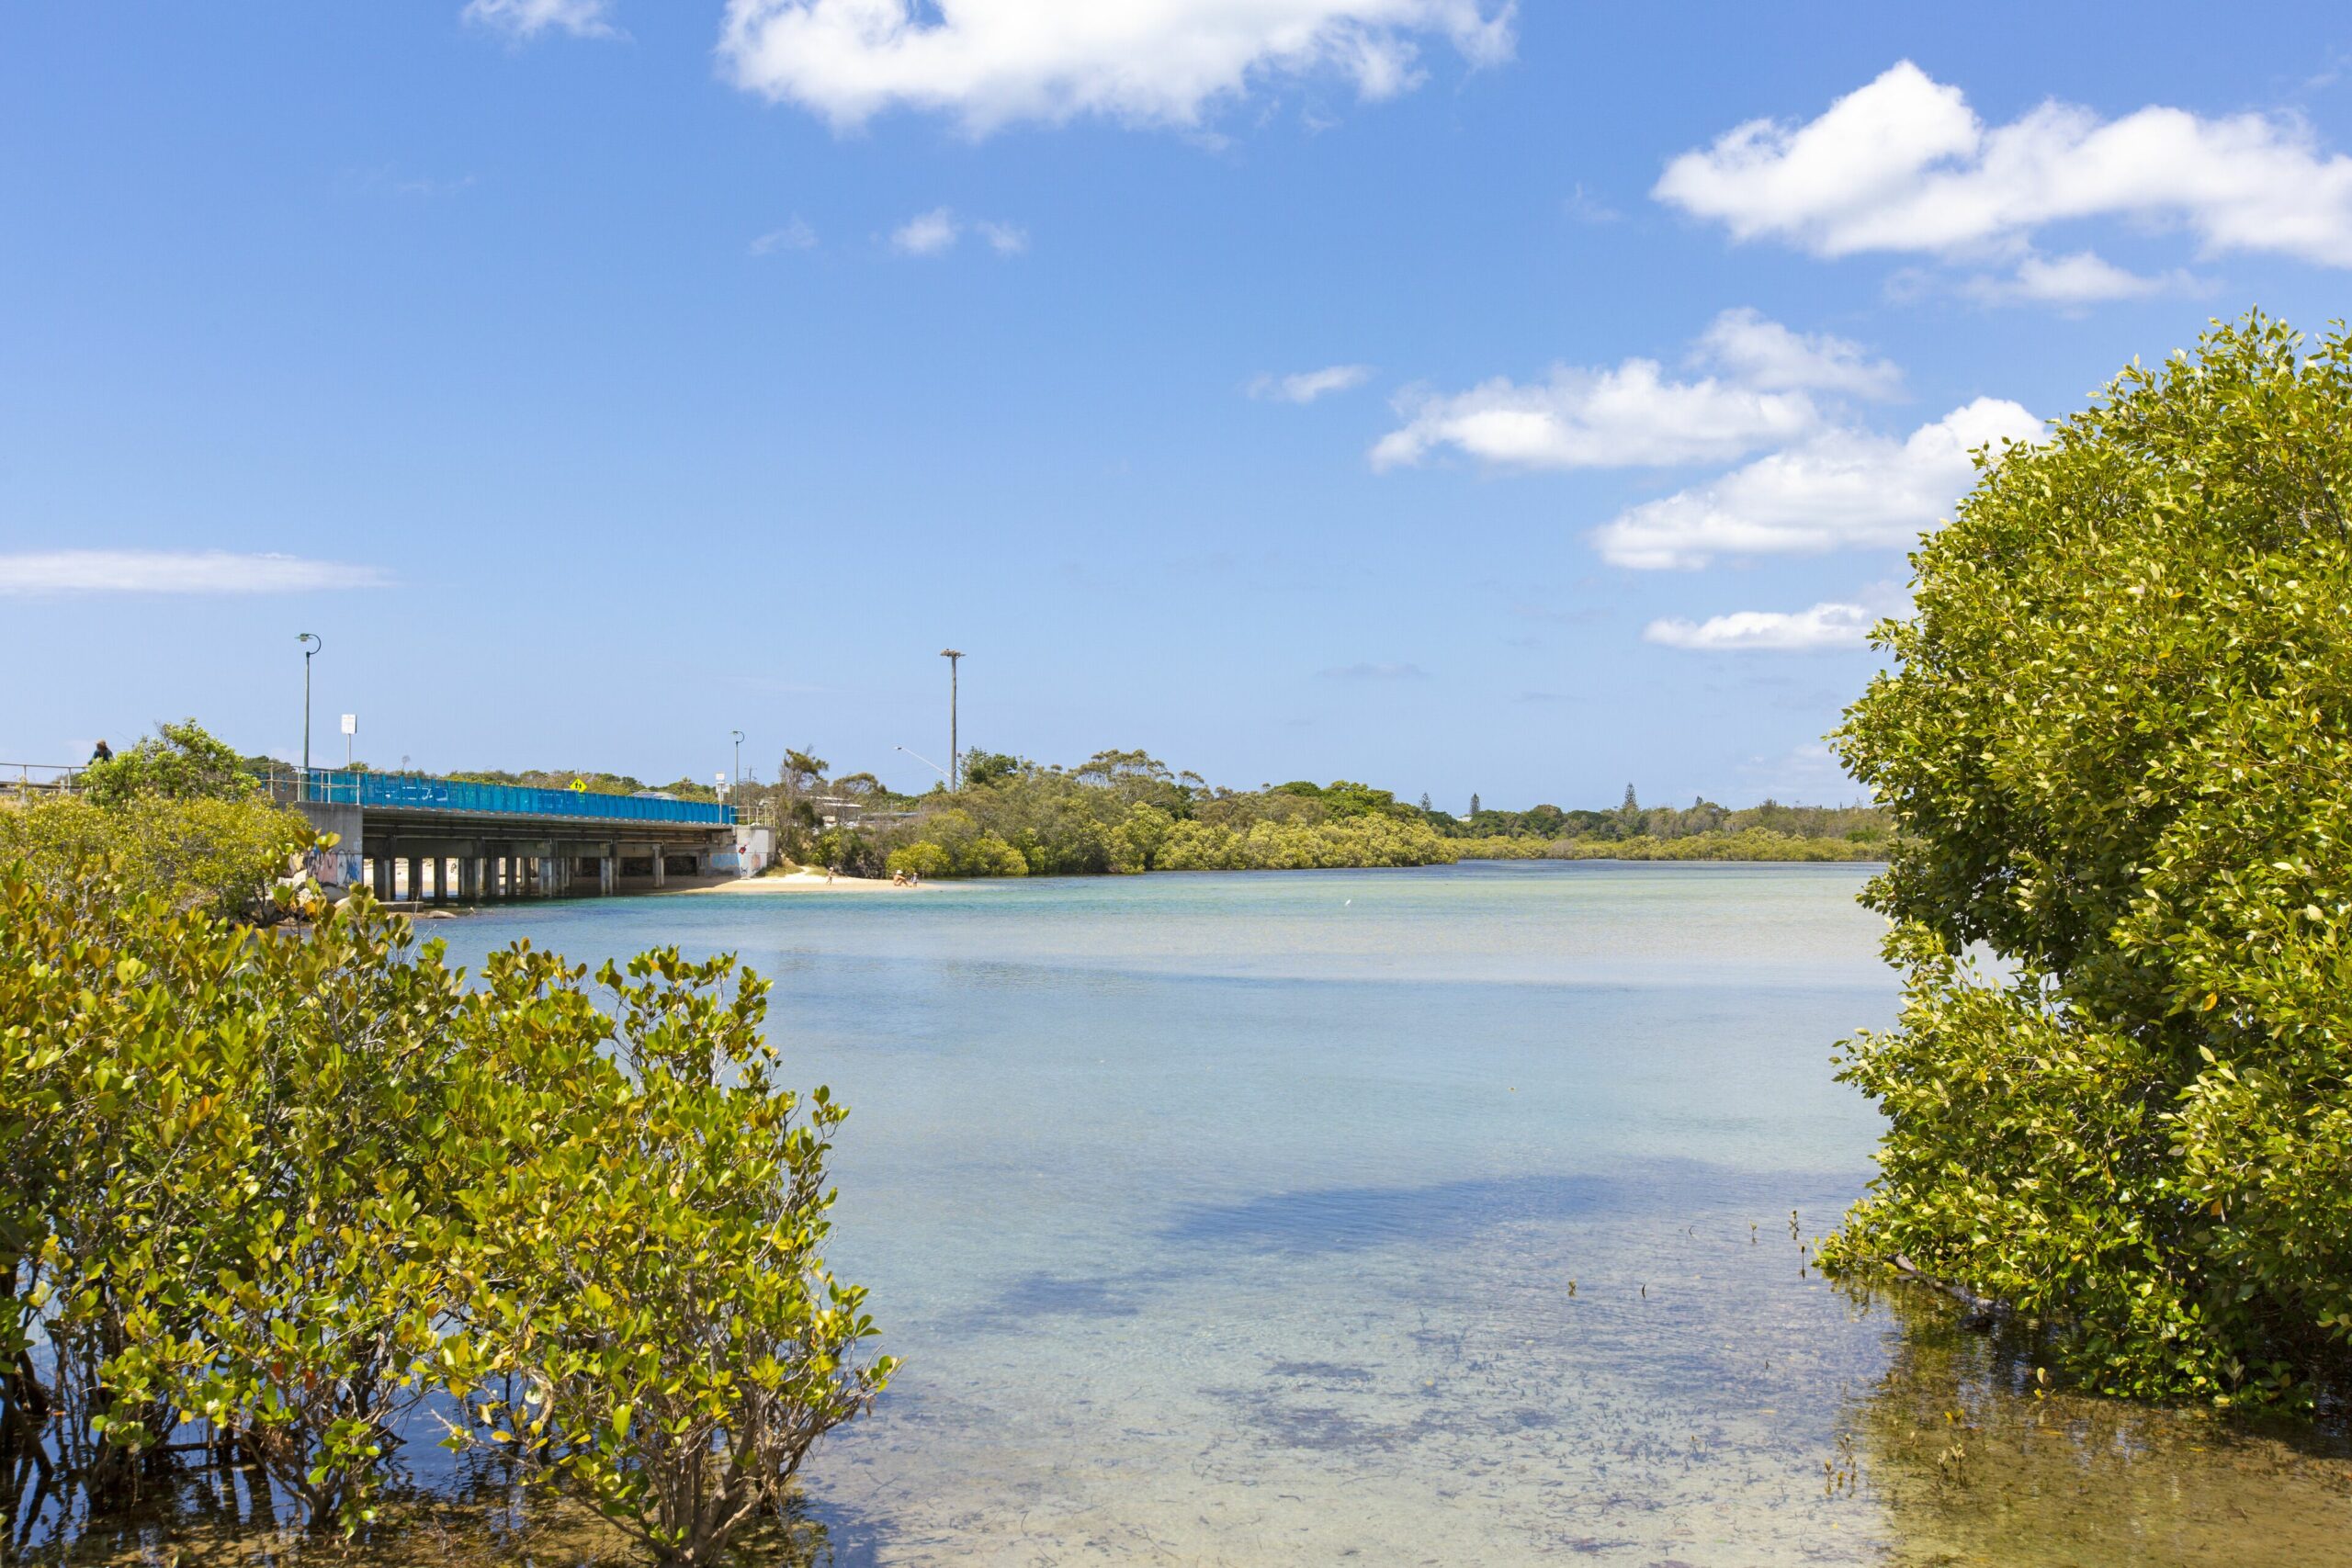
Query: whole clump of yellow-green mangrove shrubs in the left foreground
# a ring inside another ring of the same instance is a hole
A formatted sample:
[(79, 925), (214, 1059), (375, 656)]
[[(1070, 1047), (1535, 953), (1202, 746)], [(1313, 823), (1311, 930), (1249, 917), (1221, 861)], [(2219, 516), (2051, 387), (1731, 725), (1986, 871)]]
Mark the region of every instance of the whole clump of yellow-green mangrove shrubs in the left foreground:
[(103, 1509), (198, 1422), (358, 1530), (430, 1387), (513, 1436), (515, 1380), (534, 1481), (713, 1561), (889, 1375), (764, 983), (652, 954), (607, 1011), (527, 947), (468, 990), (365, 893), (299, 912), (0, 865), (0, 1432)]

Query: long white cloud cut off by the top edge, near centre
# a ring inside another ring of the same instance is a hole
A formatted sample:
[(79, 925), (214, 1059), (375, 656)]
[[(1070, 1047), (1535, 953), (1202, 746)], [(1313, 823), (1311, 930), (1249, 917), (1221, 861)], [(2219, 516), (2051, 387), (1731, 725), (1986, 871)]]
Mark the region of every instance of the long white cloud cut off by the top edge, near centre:
[[(477, 0), (482, 2), (482, 0)], [(517, 0), (503, 0), (517, 2)], [(520, 0), (532, 2), (532, 0)], [(734, 82), (835, 127), (889, 108), (971, 132), (1110, 115), (1195, 125), (1272, 75), (1338, 71), (1364, 99), (1421, 80), (1418, 42), (1510, 59), (1515, 0), (727, 0)]]

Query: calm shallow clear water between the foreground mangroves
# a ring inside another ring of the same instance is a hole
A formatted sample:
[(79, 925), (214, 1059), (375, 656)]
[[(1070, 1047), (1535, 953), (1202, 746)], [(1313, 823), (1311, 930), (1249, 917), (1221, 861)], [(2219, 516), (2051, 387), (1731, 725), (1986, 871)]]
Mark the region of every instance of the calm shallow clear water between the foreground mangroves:
[[(623, 898), (452, 952), (734, 950), (856, 1112), (910, 1366), (840, 1563), (2328, 1563), (2352, 1460), (2032, 1399), (1804, 1267), (1893, 1016), (1856, 867), (1465, 865)], [(1792, 1234), (1795, 1232), (1795, 1234)]]

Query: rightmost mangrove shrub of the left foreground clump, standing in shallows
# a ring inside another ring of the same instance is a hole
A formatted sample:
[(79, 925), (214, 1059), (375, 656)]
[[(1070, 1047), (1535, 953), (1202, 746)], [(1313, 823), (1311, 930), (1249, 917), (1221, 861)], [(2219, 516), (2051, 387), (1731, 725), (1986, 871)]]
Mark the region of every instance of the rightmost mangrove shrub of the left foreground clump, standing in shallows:
[[(818, 1255), (847, 1112), (774, 1084), (767, 985), (729, 990), (731, 969), (675, 950), (607, 966), (614, 1060), (564, 1053), (560, 1077), (588, 1088), (569, 1105), (524, 1074), (503, 1119), (553, 1124), (536, 1159), (485, 1168), (468, 1199), (496, 1246), (473, 1333), (445, 1349), (492, 1441), (684, 1566), (781, 1514), (816, 1439), (894, 1366), (851, 1363), (875, 1333), (866, 1293)], [(508, 1373), (515, 1392), (489, 1394)]]

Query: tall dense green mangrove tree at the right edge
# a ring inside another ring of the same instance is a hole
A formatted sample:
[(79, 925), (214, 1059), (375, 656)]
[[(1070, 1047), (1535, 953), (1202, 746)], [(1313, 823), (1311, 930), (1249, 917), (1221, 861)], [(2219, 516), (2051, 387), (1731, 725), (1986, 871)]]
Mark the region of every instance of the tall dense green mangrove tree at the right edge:
[(2096, 1389), (2305, 1406), (2352, 1366), (2352, 343), (2249, 317), (1994, 458), (1839, 738), (1907, 997), (1825, 1260)]

